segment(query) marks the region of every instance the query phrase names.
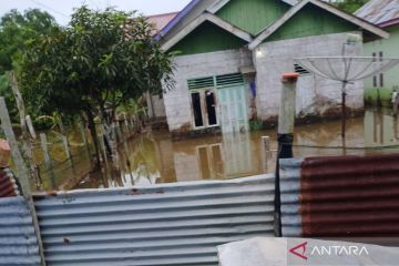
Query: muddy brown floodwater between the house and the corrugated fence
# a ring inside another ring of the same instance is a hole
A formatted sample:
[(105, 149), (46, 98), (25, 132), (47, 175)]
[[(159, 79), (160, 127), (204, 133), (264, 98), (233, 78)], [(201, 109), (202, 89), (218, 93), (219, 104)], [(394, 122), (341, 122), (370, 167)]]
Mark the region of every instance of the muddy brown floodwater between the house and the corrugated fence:
[[(276, 130), (268, 130), (173, 142), (166, 132), (143, 133), (121, 145), (120, 171), (91, 174), (76, 188), (270, 173), (276, 164)], [(263, 136), (269, 136), (268, 145)], [(364, 117), (348, 120), (345, 143), (337, 120), (296, 126), (294, 144), (295, 157), (399, 152), (399, 121), (390, 110), (368, 110)]]

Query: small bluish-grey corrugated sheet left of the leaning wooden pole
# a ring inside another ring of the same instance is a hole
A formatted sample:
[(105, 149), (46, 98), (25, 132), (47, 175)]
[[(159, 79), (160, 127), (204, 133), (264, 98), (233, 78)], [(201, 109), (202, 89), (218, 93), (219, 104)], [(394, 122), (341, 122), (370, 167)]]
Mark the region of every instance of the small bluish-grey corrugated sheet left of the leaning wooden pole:
[(0, 265), (40, 265), (32, 216), (21, 196), (0, 198)]

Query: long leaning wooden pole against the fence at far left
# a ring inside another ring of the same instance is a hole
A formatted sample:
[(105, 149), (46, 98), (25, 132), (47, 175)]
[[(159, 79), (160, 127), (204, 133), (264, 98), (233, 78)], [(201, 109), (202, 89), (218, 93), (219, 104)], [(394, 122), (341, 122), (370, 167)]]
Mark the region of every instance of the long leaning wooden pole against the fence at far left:
[(10, 121), (10, 116), (9, 116), (9, 113), (7, 110), (4, 98), (0, 98), (0, 120), (1, 120), (1, 127), (4, 131), (6, 137), (11, 147), (12, 160), (17, 167), (17, 176), (16, 177), (18, 178), (18, 181), (21, 185), (21, 191), (22, 191), (23, 197), (27, 201), (28, 207), (32, 215), (34, 233), (35, 233), (35, 236), (38, 239), (39, 253), (40, 253), (40, 257), (41, 257), (41, 265), (45, 266), (44, 249), (43, 249), (43, 243), (42, 243), (42, 238), (41, 238), (41, 234), (40, 234), (38, 215), (37, 215), (35, 208), (34, 208), (33, 198), (32, 198), (30, 184), (29, 184), (30, 174), (29, 174), (29, 170), (28, 170), (27, 165), (23, 162), (20, 150), (18, 147), (17, 139), (12, 131), (11, 121)]

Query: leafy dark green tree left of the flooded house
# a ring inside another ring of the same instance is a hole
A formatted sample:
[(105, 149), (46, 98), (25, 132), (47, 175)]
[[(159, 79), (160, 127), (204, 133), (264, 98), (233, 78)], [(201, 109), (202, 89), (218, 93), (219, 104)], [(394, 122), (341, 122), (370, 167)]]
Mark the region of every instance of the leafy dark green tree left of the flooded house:
[(117, 106), (174, 85), (172, 55), (153, 41), (146, 19), (134, 14), (83, 6), (68, 28), (32, 42), (23, 57), (29, 102), (43, 112), (83, 112), (98, 154), (96, 115), (110, 125)]

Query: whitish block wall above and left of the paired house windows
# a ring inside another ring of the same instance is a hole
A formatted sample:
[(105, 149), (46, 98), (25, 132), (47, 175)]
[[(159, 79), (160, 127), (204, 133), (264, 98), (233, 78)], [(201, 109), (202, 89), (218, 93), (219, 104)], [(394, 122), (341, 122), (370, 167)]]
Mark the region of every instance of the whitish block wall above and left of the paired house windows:
[(171, 132), (193, 130), (193, 114), (187, 80), (237, 73), (239, 66), (252, 64), (250, 52), (227, 50), (176, 57), (176, 88), (164, 93), (165, 113)]

